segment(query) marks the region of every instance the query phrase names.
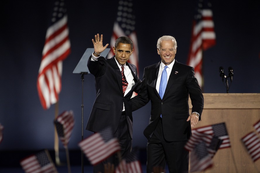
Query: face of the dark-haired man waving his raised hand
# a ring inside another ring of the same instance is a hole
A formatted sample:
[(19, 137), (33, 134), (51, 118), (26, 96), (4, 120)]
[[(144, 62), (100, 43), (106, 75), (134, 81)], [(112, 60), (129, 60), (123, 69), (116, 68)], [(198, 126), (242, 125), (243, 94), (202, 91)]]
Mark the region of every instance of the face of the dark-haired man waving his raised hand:
[(119, 43), (117, 48), (113, 47), (115, 58), (119, 64), (124, 65), (132, 55), (134, 49), (131, 49), (131, 44)]

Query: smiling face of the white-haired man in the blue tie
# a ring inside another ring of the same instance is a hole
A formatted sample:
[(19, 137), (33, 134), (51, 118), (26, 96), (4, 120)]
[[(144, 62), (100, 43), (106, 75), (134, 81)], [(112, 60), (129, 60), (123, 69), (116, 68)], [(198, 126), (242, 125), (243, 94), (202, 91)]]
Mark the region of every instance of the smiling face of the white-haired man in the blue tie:
[(160, 55), (162, 62), (165, 65), (169, 65), (175, 58), (176, 49), (174, 49), (174, 42), (172, 40), (169, 41), (161, 41), (160, 49), (157, 48), (157, 53)]

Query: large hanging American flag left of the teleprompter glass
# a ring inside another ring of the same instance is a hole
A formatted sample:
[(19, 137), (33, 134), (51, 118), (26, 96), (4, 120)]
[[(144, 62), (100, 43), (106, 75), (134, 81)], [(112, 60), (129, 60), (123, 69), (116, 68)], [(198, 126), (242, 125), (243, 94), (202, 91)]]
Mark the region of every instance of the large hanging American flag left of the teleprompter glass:
[(59, 100), (62, 61), (71, 51), (67, 20), (64, 0), (55, 1), (37, 79), (38, 94), (44, 109)]

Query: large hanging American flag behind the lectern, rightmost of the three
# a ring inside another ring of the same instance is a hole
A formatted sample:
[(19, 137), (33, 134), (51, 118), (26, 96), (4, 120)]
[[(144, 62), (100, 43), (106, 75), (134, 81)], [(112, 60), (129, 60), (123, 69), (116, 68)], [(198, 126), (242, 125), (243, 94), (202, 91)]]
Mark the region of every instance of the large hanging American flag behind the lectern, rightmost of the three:
[(203, 87), (203, 51), (216, 44), (211, 3), (199, 0), (192, 24), (191, 43), (187, 65), (194, 67), (199, 86)]

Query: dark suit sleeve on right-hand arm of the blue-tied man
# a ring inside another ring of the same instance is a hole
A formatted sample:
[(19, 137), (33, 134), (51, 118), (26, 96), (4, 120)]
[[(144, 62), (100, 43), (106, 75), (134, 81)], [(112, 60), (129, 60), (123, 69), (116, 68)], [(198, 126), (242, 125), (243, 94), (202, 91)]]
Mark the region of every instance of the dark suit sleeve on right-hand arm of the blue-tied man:
[(204, 107), (204, 97), (194, 74), (194, 68), (192, 67), (188, 73), (186, 86), (189, 91), (189, 97), (191, 98), (192, 112), (199, 113), (199, 121), (201, 121), (201, 114)]

